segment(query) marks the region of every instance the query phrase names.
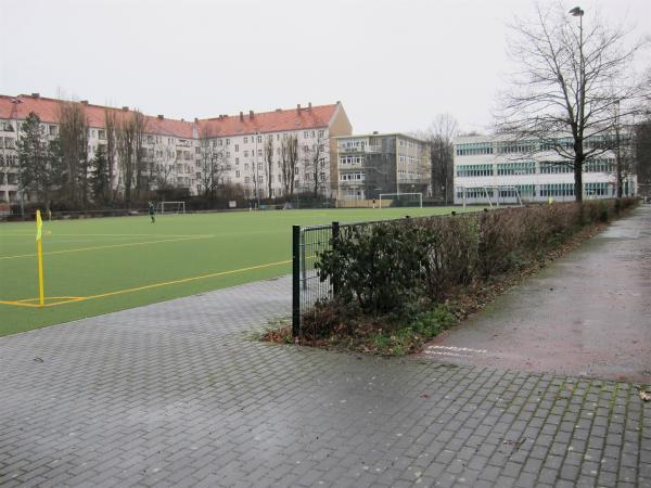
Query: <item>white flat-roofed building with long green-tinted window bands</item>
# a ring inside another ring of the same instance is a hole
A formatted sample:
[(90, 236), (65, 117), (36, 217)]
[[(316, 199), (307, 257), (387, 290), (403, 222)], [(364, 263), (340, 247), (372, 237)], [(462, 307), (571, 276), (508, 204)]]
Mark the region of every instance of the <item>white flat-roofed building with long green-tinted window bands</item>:
[[(565, 143), (571, 144), (570, 139)], [(550, 197), (574, 201), (574, 171), (561, 162), (556, 152), (538, 141), (515, 141), (508, 134), (457, 138), (455, 203), (514, 203), (518, 196), (523, 202), (546, 202)], [(612, 151), (586, 163), (583, 185), (584, 198), (616, 194)], [(636, 177), (627, 175), (624, 194), (636, 194)]]

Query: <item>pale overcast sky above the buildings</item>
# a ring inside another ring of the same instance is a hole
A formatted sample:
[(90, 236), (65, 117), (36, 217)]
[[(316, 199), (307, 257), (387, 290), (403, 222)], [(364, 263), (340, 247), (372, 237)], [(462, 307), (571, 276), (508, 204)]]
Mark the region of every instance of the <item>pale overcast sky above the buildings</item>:
[[(570, 0), (651, 31), (651, 0)], [(0, 93), (208, 117), (341, 100), (356, 132), (490, 124), (529, 0), (0, 0)], [(641, 63), (651, 64), (650, 60)]]

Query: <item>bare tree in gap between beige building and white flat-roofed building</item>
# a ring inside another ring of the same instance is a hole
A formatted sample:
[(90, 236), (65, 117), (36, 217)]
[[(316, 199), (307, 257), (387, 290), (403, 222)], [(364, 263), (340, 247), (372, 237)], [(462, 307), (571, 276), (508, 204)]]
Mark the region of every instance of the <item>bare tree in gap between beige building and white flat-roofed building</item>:
[(445, 203), (450, 202), (454, 196), (454, 151), (458, 132), (459, 125), (452, 115), (438, 114), (426, 130), (418, 133), (418, 137), (427, 142), (430, 150), (432, 196), (443, 198)]

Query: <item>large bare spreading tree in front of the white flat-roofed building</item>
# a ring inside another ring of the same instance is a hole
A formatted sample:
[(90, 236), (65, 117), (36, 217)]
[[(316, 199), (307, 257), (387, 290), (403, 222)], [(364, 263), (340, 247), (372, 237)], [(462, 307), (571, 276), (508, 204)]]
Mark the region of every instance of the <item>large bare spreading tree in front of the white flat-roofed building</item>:
[(647, 41), (627, 46), (624, 29), (597, 15), (584, 28), (584, 11), (570, 14), (560, 2), (538, 4), (532, 22), (510, 26), (510, 54), (520, 69), (501, 97), (498, 130), (527, 151), (558, 154), (573, 168), (575, 197), (582, 201), (584, 164), (612, 151), (616, 117), (638, 110), (642, 89), (629, 67)]

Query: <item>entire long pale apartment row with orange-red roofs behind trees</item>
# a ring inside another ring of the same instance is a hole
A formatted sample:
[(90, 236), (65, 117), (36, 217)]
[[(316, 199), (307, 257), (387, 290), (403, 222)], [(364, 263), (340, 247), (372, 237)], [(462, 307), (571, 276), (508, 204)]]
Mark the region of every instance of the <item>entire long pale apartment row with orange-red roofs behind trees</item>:
[[(0, 95), (0, 201), (18, 201), (16, 138), (21, 125), (31, 112), (36, 113), (49, 138), (59, 133), (63, 101), (30, 95)], [(93, 105), (81, 101), (88, 125), (88, 157), (92, 158), (106, 145), (106, 116), (116, 123), (133, 115), (133, 111)], [(283, 179), (281, 142), (296, 139), (294, 192), (317, 188), (326, 196), (336, 194), (336, 167), (330, 165), (334, 151), (333, 136), (352, 133), (352, 126), (341, 102), (331, 105), (302, 107), (235, 116), (219, 115), (208, 119), (187, 121), (164, 115), (144, 116), (143, 150), (148, 178), (152, 189), (186, 188), (191, 194), (201, 193), (206, 183), (205, 162), (218, 183), (241, 184), (250, 196), (280, 196), (286, 187)], [(265, 141), (271, 142), (272, 158), (265, 155)], [(316, 162), (316, 163), (315, 163)], [(124, 176), (116, 162), (112, 187), (124, 188)], [(315, 178), (316, 177), (316, 178)], [(317, 180), (315, 183), (315, 179)], [(269, 185), (271, 180), (271, 185)], [(269, 195), (269, 188), (271, 194)], [(29, 195), (23, 195), (28, 200)]]

